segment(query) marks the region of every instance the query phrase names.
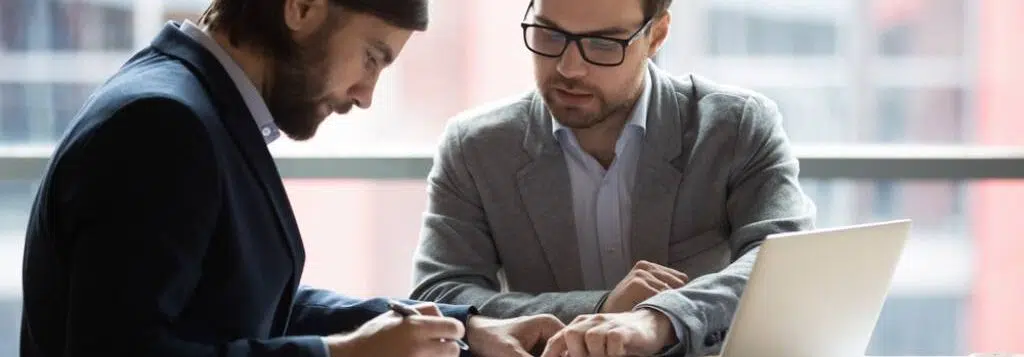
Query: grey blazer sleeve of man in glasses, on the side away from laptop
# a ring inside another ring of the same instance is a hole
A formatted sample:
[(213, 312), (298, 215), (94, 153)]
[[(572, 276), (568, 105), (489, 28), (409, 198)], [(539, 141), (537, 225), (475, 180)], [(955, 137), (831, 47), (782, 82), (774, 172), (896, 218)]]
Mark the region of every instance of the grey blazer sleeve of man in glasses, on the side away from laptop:
[(465, 159), (463, 137), (461, 121), (453, 121), (427, 178), (427, 212), (414, 258), (412, 298), (471, 304), (498, 318), (553, 314), (568, 323), (595, 313), (608, 292), (501, 292), (501, 262)]

